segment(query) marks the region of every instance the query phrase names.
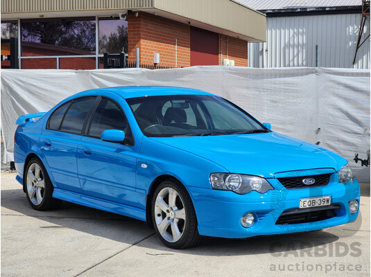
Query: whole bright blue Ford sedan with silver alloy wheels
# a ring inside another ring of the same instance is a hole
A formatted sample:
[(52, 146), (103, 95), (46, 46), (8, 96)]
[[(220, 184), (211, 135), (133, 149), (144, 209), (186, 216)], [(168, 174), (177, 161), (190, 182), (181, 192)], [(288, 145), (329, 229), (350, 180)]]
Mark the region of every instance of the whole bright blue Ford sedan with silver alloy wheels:
[(17, 125), (17, 180), (33, 208), (64, 200), (133, 217), (167, 247), (324, 229), (359, 213), (345, 159), (205, 91), (92, 89)]

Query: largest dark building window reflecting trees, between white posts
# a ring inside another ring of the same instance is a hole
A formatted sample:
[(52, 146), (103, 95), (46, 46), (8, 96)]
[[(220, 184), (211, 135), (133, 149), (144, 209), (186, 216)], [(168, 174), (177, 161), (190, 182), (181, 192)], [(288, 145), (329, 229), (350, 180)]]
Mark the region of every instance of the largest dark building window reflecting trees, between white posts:
[[(21, 56), (95, 55), (95, 18), (21, 20)], [(93, 57), (22, 58), (22, 69), (95, 69)]]

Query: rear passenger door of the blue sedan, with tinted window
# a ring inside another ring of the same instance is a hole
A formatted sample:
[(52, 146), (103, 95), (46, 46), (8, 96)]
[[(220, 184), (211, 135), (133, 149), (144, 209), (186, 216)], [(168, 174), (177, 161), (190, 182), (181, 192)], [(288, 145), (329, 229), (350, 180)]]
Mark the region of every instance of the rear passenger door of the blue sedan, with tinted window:
[(77, 98), (55, 109), (41, 136), (41, 149), (55, 186), (81, 193), (77, 148), (96, 96)]

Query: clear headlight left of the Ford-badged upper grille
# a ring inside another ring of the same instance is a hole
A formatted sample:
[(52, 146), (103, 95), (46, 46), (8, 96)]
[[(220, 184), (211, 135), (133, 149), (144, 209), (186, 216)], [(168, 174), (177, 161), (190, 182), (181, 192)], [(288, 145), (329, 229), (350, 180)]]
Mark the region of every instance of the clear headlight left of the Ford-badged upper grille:
[(232, 190), (239, 195), (250, 193), (251, 190), (256, 190), (258, 193), (273, 190), (273, 187), (264, 178), (231, 173), (212, 173), (210, 184), (214, 190)]

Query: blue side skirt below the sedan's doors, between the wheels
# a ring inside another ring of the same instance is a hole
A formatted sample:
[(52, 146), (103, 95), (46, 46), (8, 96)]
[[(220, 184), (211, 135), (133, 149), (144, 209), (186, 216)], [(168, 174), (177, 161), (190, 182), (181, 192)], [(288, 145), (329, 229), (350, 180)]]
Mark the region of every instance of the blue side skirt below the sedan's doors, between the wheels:
[(101, 198), (81, 195), (80, 193), (73, 193), (60, 188), (54, 188), (53, 197), (74, 204), (96, 208), (98, 210), (107, 211), (110, 213), (117, 213), (119, 215), (125, 215), (127, 217), (132, 217), (144, 222), (146, 221), (146, 211), (141, 208), (112, 202)]

